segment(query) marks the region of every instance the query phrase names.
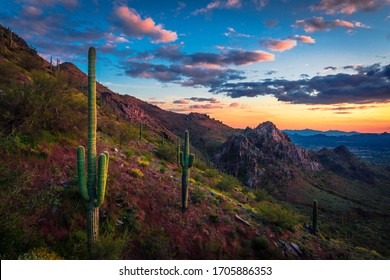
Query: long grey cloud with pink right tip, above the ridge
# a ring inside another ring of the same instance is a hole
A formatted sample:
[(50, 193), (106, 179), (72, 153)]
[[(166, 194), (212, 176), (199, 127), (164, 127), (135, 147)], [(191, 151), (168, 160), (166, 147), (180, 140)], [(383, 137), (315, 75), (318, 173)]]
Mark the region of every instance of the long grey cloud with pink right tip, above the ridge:
[(181, 64), (163, 65), (149, 62), (126, 64), (125, 73), (131, 77), (153, 78), (160, 82), (174, 82), (182, 86), (216, 87), (229, 80), (241, 80), (241, 71), (233, 69), (213, 69)]

